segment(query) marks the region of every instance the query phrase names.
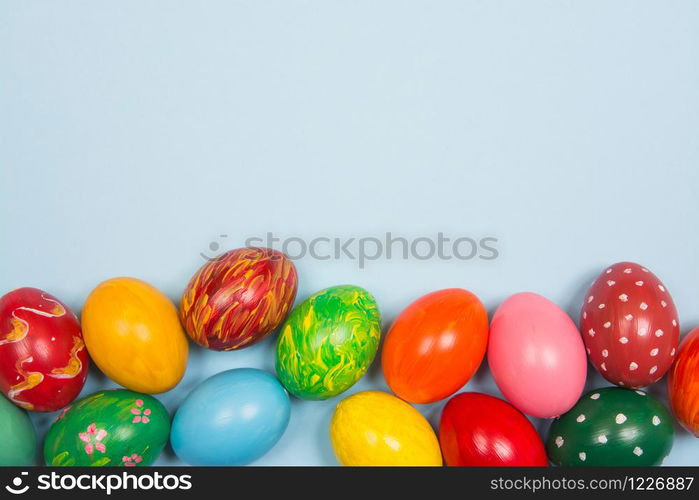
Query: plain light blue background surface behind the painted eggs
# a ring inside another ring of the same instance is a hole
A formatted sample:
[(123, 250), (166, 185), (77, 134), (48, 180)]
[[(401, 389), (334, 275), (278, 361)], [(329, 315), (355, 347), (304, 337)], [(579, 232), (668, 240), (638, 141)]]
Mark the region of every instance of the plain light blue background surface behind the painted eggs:
[[(130, 275), (178, 300), (212, 241), (441, 230), (495, 236), (500, 258), (302, 259), (299, 298), (361, 285), (387, 326), (434, 289), (491, 313), (531, 290), (577, 318), (596, 274), (634, 260), (684, 334), (699, 324), (697, 26), (694, 0), (2, 1), (0, 290), (79, 311)], [(273, 370), (272, 340), (193, 347), (160, 399), (174, 410), (243, 366)], [(93, 372), (84, 393), (104, 386)], [(378, 362), (350, 392), (369, 388), (386, 388)], [(497, 394), (484, 369), (467, 389)], [(336, 463), (336, 402), (294, 401), (256, 463)], [(441, 407), (420, 409), (436, 424)], [(699, 463), (678, 432), (666, 463)]]

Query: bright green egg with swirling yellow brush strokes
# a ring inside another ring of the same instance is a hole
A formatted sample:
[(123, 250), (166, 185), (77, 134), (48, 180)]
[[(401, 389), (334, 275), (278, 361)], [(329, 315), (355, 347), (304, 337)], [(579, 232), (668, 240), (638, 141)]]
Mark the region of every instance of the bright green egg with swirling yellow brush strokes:
[(334, 286), (303, 301), (277, 340), (277, 376), (302, 399), (327, 399), (346, 391), (376, 355), (381, 318), (363, 288)]

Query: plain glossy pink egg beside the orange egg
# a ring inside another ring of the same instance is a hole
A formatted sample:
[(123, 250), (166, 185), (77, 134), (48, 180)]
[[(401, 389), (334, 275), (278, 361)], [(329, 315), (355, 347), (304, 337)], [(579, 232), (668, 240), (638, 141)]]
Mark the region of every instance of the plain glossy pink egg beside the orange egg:
[(539, 418), (568, 411), (587, 376), (585, 347), (573, 320), (553, 302), (528, 292), (511, 296), (495, 311), (488, 364), (505, 398)]

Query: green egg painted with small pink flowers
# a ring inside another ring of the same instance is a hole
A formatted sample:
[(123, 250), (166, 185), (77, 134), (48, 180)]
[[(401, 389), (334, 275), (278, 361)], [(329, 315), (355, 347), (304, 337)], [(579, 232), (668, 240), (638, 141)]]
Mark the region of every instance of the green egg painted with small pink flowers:
[(54, 466), (152, 464), (167, 444), (170, 417), (152, 396), (124, 389), (90, 394), (63, 410), (44, 441)]

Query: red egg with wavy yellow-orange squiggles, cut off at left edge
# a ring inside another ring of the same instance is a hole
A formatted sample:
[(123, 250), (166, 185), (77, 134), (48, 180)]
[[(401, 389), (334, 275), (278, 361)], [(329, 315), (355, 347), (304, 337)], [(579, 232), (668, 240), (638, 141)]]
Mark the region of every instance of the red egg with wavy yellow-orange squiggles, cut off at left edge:
[(36, 288), (0, 297), (0, 390), (16, 405), (56, 411), (87, 378), (80, 323), (68, 306)]

